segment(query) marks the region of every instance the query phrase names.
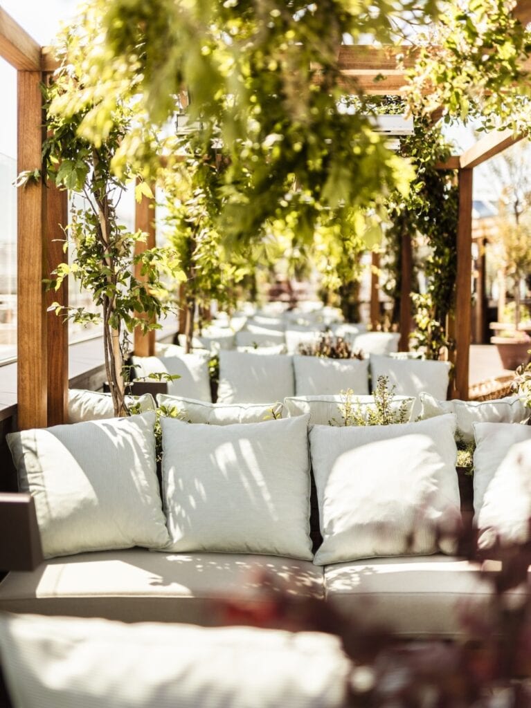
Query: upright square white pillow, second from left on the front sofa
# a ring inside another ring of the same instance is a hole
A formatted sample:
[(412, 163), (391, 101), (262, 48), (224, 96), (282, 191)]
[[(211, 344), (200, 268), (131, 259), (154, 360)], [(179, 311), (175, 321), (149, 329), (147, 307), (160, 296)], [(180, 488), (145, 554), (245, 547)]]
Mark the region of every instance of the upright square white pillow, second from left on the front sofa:
[(167, 550), (312, 559), (308, 416), (161, 425)]

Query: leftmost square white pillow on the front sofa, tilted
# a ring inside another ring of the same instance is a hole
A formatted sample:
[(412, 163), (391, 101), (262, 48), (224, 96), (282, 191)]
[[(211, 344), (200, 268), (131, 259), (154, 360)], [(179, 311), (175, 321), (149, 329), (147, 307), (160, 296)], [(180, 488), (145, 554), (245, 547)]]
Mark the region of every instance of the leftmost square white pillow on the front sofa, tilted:
[(46, 558), (167, 544), (154, 426), (149, 412), (6, 436)]

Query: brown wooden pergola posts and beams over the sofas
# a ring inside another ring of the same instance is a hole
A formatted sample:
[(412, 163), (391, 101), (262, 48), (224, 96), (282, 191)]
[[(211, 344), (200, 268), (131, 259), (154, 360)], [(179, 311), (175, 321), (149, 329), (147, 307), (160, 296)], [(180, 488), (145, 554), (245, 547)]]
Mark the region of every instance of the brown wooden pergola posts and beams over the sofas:
[[(531, 0), (520, 0), (515, 15), (531, 21)], [(345, 76), (345, 86), (355, 78), (369, 94), (401, 95), (406, 88), (404, 70), (397, 55), (403, 47), (376, 48), (366, 45), (342, 46), (338, 62)], [(414, 60), (414, 50), (407, 47), (406, 67)], [(0, 8), (0, 56), (17, 71), (17, 170), (42, 166), (43, 98), (40, 84), (57, 68), (52, 51), (41, 47), (2, 8)], [(439, 115), (434, 116), (437, 120)], [(493, 132), (479, 140), (462, 155), (452, 156), (440, 169), (457, 171), (459, 181), (459, 225), (457, 233), (457, 283), (454, 321), (455, 377), (452, 395), (468, 398), (469, 344), (471, 338), (471, 219), (474, 167), (518, 142), (510, 131)], [(155, 244), (152, 200), (143, 198), (136, 207), (136, 227), (149, 234), (147, 244)], [(18, 428), (41, 428), (67, 420), (68, 331), (62, 320), (47, 312), (52, 301), (67, 304), (67, 287), (46, 292), (43, 279), (64, 259), (60, 224), (67, 224), (67, 193), (52, 183), (28, 183), (18, 191)], [(140, 246), (142, 247), (142, 246)], [(410, 290), (407, 274), (411, 271), (411, 246), (403, 244), (401, 292), (402, 346), (407, 349), (410, 331)], [(373, 292), (376, 292), (373, 279)], [(376, 316), (376, 308), (371, 308)], [(135, 350), (150, 354), (154, 337), (135, 333)]]

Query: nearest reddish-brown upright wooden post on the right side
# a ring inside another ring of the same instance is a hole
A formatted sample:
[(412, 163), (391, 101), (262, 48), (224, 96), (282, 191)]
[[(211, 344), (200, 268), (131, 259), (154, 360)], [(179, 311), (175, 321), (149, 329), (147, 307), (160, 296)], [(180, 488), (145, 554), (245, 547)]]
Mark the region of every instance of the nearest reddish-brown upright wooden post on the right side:
[(455, 377), (452, 396), (469, 398), (472, 275), (472, 176), (459, 170), (459, 222), (457, 224), (457, 281), (455, 287)]

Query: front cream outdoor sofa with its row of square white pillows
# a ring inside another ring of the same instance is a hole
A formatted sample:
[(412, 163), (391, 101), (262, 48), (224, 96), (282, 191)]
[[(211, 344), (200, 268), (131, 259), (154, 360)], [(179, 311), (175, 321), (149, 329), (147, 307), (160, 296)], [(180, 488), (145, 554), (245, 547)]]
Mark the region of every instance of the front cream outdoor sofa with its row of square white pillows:
[(526, 409), (425, 394), (423, 421), (311, 424), (331, 399), (303, 397), (279, 419), (265, 404), (210, 404), (211, 424), (162, 419), (162, 486), (152, 411), (11, 435), (47, 557), (6, 576), (0, 610), (211, 626), (227, 622), (225, 601), (256, 609), (286, 592), (401, 636), (464, 636), (463, 603), (483, 612), (493, 589), (454, 555), (454, 435), (476, 437), (480, 540), (521, 536)]

